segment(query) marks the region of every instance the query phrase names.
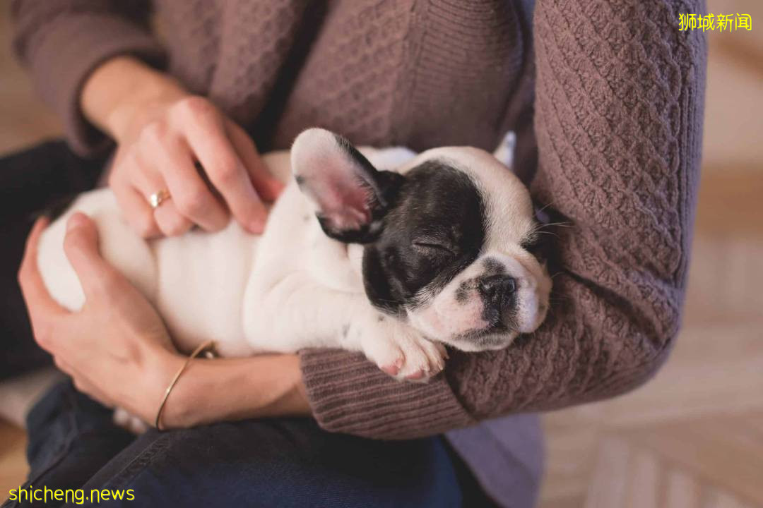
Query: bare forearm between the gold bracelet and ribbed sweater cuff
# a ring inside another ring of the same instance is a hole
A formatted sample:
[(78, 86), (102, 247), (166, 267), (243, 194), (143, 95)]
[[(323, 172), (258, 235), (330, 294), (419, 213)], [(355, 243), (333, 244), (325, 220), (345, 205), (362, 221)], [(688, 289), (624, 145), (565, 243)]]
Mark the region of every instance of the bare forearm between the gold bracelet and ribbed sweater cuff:
[[(176, 359), (171, 362), (173, 369), (179, 365)], [(309, 414), (296, 355), (195, 359), (172, 388), (162, 425)]]

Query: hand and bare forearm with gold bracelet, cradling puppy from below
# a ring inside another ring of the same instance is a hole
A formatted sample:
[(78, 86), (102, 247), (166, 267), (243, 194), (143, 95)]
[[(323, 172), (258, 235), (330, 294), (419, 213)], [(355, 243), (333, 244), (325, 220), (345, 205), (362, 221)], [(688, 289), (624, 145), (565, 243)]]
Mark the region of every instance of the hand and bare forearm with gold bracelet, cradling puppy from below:
[[(37, 242), (27, 240), (18, 280), (34, 337), (76, 387), (107, 406), (124, 407), (153, 424), (159, 402), (185, 363), (150, 303), (98, 254), (93, 222), (75, 214), (64, 248), (85, 292), (79, 312), (62, 308), (37, 270)], [(248, 417), (310, 414), (295, 355), (193, 360), (173, 388), (163, 427)]]

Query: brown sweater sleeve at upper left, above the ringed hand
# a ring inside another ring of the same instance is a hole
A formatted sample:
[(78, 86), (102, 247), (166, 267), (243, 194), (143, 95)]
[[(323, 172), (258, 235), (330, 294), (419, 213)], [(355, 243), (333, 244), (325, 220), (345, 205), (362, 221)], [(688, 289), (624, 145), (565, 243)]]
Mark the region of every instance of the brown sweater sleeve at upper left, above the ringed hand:
[(152, 64), (163, 50), (148, 30), (148, 0), (14, 0), (14, 50), (80, 155), (107, 141), (82, 116), (79, 93), (105, 59), (131, 54)]

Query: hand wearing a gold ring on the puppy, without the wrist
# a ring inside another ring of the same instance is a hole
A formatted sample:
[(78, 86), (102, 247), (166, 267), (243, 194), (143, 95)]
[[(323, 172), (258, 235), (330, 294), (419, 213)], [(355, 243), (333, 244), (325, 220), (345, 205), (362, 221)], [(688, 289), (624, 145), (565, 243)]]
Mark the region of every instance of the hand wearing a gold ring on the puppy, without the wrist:
[[(128, 129), (109, 183), (144, 238), (180, 235), (194, 224), (218, 231), (230, 214), (262, 232), (263, 199), (275, 200), (283, 188), (246, 132), (204, 97), (182, 97)], [(150, 196), (163, 190), (169, 199), (151, 209)]]

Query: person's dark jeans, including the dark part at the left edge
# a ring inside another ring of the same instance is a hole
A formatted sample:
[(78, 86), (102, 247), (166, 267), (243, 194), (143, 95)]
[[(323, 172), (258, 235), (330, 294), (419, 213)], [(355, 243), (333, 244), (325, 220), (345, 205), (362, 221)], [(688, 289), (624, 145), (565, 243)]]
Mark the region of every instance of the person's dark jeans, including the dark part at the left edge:
[[(31, 338), (16, 282), (31, 217), (64, 196), (92, 188), (102, 164), (76, 158), (62, 142), (0, 160), (0, 376), (50, 362)], [(150, 430), (136, 438), (114, 427), (111, 411), (70, 382), (56, 385), (35, 405), (27, 428), (31, 472), (21, 486), (26, 492), (30, 486), (82, 488), (84, 496), (93, 489), (132, 489), (134, 500), (107, 503), (126, 506), (488, 503), (439, 436), (383, 442), (327, 433), (307, 418), (279, 418)], [(61, 505), (48, 495), (39, 506)], [(73, 500), (72, 506), (77, 504), (79, 499)], [(9, 500), (7, 506), (30, 504)]]

